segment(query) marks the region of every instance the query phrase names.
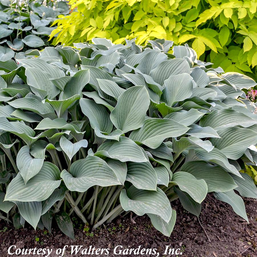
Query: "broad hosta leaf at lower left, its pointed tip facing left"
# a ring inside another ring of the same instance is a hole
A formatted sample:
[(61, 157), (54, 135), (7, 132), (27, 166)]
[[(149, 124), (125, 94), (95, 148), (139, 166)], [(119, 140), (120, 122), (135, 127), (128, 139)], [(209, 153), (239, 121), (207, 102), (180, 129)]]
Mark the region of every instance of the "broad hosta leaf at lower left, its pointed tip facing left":
[(11, 181), (7, 188), (5, 200), (20, 202), (41, 202), (53, 193), (61, 183), (59, 169), (50, 162), (44, 162), (41, 170), (24, 183), (21, 173)]

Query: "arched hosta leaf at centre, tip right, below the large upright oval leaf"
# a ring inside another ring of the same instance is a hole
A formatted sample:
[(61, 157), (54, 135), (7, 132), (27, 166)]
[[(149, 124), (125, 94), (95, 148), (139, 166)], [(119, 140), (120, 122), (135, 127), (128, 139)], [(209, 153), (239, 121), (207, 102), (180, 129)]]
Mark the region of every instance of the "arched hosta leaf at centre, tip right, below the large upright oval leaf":
[(120, 137), (119, 142), (105, 142), (98, 147), (96, 156), (106, 156), (122, 162), (145, 162), (145, 157), (141, 148), (128, 137)]

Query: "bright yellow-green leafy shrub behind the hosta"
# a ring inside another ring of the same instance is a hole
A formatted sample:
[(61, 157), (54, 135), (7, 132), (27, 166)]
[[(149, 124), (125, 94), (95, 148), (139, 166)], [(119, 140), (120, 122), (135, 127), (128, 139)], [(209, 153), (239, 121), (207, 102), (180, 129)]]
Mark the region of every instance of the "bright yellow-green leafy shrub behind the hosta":
[(54, 44), (91, 41), (94, 37), (124, 43), (164, 38), (188, 43), (201, 60), (226, 72), (255, 80), (257, 1), (236, 0), (70, 0), (72, 13), (60, 15), (50, 35)]

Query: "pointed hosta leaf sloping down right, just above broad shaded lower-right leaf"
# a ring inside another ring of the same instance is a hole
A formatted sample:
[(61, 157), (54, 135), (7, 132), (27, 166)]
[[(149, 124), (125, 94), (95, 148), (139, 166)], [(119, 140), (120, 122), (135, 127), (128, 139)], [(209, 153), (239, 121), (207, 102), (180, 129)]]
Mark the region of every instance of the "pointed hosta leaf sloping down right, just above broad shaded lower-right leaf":
[(204, 149), (195, 149), (196, 156), (203, 161), (211, 161), (220, 165), (228, 172), (235, 174), (236, 176), (242, 177), (236, 167), (228, 162), (228, 158), (222, 151), (217, 148), (213, 148), (212, 151), (207, 152)]

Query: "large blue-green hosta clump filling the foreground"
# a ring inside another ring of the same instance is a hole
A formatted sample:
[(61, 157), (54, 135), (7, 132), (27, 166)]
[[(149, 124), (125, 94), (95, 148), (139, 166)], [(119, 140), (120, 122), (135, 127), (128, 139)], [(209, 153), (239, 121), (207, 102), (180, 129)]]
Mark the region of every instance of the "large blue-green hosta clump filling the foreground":
[(1, 67), (1, 218), (74, 238), (70, 217), (94, 230), (132, 211), (170, 236), (172, 201), (199, 216), (212, 192), (248, 221), (256, 82), (171, 41), (93, 42)]

